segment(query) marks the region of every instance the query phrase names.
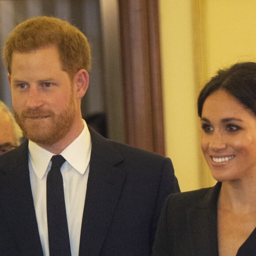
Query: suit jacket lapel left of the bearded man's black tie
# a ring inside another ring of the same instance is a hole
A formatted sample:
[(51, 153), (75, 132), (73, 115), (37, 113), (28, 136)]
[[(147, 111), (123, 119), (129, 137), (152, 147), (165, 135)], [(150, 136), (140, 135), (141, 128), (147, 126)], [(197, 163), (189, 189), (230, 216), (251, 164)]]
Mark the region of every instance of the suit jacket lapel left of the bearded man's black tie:
[[(3, 159), (3, 158), (2, 158)], [(19, 248), (20, 255), (43, 255), (38, 232), (28, 167), (28, 142), (8, 154), (0, 169), (7, 173), (1, 178), (2, 212)], [(8, 166), (9, 169), (6, 169)]]

